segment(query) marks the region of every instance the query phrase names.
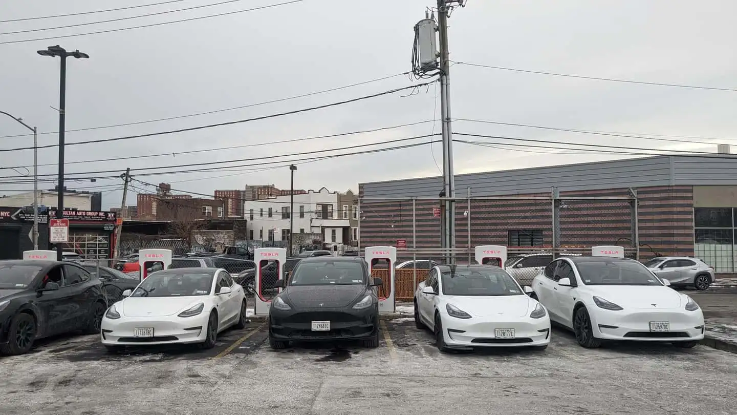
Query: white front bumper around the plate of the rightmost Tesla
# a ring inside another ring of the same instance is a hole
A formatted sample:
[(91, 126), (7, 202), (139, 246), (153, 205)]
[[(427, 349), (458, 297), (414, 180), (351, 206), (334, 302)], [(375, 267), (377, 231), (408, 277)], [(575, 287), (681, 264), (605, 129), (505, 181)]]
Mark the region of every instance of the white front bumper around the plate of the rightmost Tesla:
[[(595, 306), (594, 306), (595, 307)], [(704, 338), (704, 315), (701, 309), (631, 309), (610, 311), (595, 308), (590, 313), (594, 337), (603, 340), (693, 341)], [(651, 322), (667, 322), (667, 332), (651, 332)]]

